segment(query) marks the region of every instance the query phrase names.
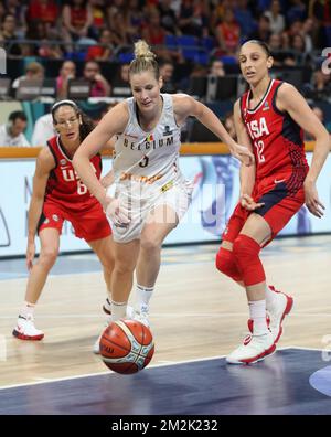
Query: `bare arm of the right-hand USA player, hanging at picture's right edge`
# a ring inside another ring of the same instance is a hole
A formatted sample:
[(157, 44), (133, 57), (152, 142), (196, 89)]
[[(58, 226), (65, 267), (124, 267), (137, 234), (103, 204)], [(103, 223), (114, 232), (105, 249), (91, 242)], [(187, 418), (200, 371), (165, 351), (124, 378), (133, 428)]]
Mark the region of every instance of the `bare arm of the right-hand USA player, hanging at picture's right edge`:
[(330, 135), (292, 85), (281, 85), (277, 107), (279, 110), (287, 111), (303, 130), (316, 139), (312, 162), (305, 180), (305, 194), (308, 210), (317, 217), (321, 217), (324, 205), (319, 200), (316, 182), (331, 149)]

